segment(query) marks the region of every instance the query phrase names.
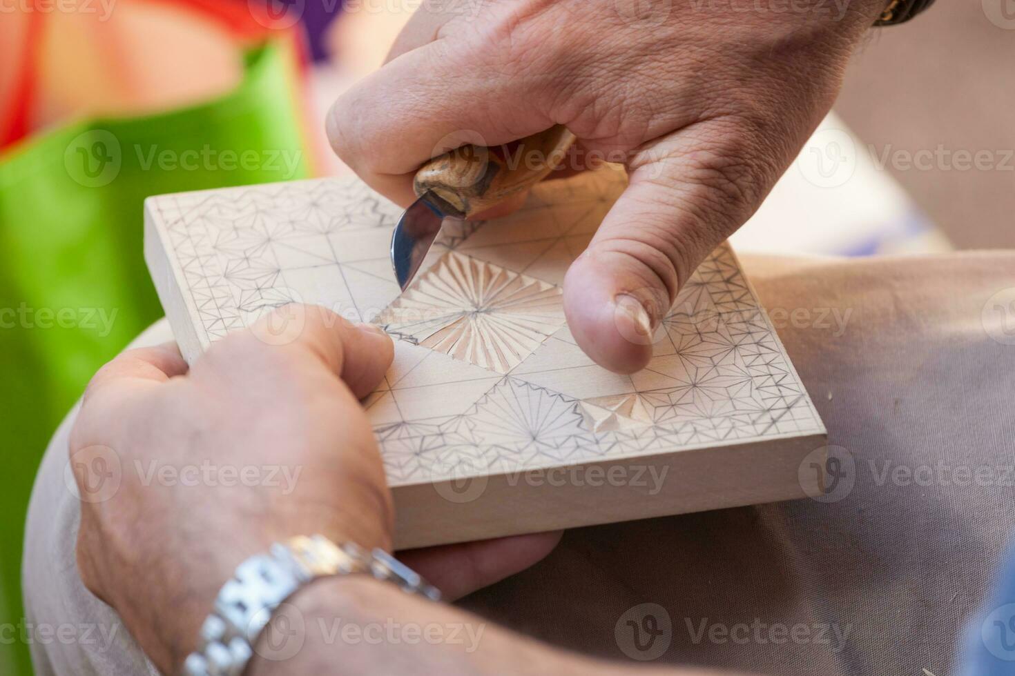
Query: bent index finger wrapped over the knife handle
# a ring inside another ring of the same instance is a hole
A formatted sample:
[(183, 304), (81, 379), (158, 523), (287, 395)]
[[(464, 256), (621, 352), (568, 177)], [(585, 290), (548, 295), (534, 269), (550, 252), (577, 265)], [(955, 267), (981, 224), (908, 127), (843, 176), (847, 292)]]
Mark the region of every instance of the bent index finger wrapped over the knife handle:
[(415, 200), (413, 174), (430, 158), (466, 144), (509, 143), (558, 122), (538, 95), (544, 83), (524, 72), (531, 64), (511, 63), (498, 46), (479, 40), (467, 31), (402, 54), (328, 112), (335, 153), (403, 207)]

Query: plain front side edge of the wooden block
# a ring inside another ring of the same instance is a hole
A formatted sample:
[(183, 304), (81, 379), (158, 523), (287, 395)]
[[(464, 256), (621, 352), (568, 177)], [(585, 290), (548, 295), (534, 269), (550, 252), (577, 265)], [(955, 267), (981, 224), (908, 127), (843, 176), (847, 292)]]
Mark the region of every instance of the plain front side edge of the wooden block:
[[(658, 495), (632, 485), (533, 485), (518, 473), (487, 477), (475, 500), (453, 503), (438, 493), (448, 481), (394, 486), (396, 548), (453, 544), (563, 528), (619, 523), (806, 498), (801, 462), (827, 445), (824, 434), (722, 447), (625, 456), (573, 465), (567, 471), (654, 466), (667, 473)], [(756, 457), (752, 457), (756, 456)], [(750, 461), (747, 461), (750, 460)], [(734, 471), (723, 472), (733, 468)], [(510, 478), (513, 480), (509, 480)], [(771, 480), (779, 479), (779, 480)], [(445, 494), (447, 495), (447, 494)], [(813, 495), (813, 494), (812, 494)]]

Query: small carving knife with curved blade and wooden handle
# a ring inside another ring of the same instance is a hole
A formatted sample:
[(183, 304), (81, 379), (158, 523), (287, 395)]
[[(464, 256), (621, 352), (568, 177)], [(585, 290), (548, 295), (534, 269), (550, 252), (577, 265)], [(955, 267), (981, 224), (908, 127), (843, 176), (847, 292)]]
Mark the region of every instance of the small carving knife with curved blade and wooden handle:
[(418, 199), (402, 214), (391, 238), (391, 265), (402, 291), (412, 283), (445, 219), (466, 219), (531, 187), (563, 161), (573, 143), (574, 135), (556, 125), (522, 139), (510, 153), (467, 145), (424, 164), (412, 183)]

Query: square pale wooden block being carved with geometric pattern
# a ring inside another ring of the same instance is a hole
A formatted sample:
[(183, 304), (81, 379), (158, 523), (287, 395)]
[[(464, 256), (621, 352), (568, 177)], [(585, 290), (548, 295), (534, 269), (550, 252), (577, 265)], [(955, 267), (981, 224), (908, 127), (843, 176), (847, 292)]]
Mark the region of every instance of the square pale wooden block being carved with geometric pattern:
[(289, 301), (396, 339), (364, 406), (400, 548), (818, 495), (824, 426), (727, 244), (645, 370), (574, 344), (559, 285), (623, 186), (613, 168), (541, 183), (510, 217), (443, 232), (404, 294), (401, 210), (356, 179), (150, 198), (145, 257), (191, 362)]

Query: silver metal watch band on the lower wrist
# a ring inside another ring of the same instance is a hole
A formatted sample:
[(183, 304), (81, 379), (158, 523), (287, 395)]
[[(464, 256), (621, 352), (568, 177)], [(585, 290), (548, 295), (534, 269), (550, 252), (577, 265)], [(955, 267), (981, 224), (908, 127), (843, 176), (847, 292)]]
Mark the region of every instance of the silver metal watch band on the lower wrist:
[(201, 626), (198, 649), (184, 662), (184, 676), (240, 676), (254, 656), (258, 635), (274, 610), (313, 580), (366, 574), (403, 591), (438, 601), (441, 592), (383, 549), (366, 551), (353, 542), (337, 545), (322, 535), (276, 542), (251, 556), (222, 586)]

